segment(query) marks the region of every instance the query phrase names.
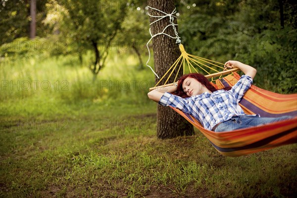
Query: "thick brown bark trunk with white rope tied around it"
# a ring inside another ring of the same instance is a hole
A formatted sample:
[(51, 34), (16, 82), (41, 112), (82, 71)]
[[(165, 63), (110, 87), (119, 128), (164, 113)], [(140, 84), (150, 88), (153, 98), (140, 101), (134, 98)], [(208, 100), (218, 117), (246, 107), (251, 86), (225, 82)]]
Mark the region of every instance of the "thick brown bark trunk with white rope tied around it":
[[(173, 0), (148, 0), (150, 7), (159, 9), (166, 13), (171, 13), (174, 10)], [(149, 13), (154, 16), (164, 15), (163, 13), (149, 9)], [(150, 17), (150, 22), (157, 20), (158, 18)], [(176, 18), (174, 23), (177, 24)], [(169, 24), (169, 17), (151, 25), (152, 34), (157, 34), (163, 31), (163, 29)], [(177, 27), (176, 27), (177, 28)], [(169, 27), (164, 32), (168, 35), (175, 36), (173, 28)], [(168, 68), (179, 57), (180, 50), (175, 43), (176, 40), (165, 35), (159, 35), (152, 40), (153, 52), (154, 52), (154, 65), (156, 73), (162, 77)], [(177, 72), (177, 71), (175, 71)], [(173, 73), (170, 82), (174, 81), (176, 73)], [(158, 79), (155, 79), (156, 82)], [(161, 82), (164, 84), (164, 82)], [(181, 115), (176, 113), (170, 107), (162, 105), (157, 106), (157, 137), (160, 139), (174, 138), (177, 136), (193, 135), (194, 128), (188, 121), (186, 121)]]

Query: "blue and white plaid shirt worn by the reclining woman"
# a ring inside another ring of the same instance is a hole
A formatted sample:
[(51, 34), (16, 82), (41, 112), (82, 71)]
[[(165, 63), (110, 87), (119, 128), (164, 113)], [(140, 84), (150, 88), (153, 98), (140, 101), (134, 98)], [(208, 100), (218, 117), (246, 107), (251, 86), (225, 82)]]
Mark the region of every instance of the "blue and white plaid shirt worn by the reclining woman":
[(204, 128), (211, 130), (219, 122), (229, 120), (234, 115), (246, 115), (238, 104), (252, 84), (252, 78), (243, 75), (231, 90), (207, 92), (183, 99), (168, 92), (159, 104), (172, 106), (193, 115)]

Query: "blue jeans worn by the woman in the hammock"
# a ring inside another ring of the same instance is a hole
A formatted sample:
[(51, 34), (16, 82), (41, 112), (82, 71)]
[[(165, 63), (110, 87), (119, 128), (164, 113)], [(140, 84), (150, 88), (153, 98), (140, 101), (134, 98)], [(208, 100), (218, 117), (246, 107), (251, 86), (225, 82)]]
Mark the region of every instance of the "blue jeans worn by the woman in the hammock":
[(236, 129), (244, 129), (248, 127), (262, 126), (271, 122), (277, 122), (281, 120), (288, 120), (293, 116), (281, 116), (281, 117), (256, 117), (253, 115), (237, 115), (231, 119), (221, 122), (215, 128), (215, 132), (233, 131)]

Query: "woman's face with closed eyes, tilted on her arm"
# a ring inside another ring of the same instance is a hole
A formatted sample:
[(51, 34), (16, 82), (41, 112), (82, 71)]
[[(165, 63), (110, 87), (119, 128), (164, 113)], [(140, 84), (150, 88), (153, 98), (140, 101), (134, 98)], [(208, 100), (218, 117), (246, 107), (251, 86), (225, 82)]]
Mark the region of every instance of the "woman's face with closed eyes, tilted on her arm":
[[(184, 92), (187, 94), (187, 96), (196, 96), (199, 94), (204, 93), (208, 89), (202, 85), (198, 80), (195, 78), (187, 77), (183, 84), (182, 84)], [(205, 90), (206, 89), (206, 90)]]

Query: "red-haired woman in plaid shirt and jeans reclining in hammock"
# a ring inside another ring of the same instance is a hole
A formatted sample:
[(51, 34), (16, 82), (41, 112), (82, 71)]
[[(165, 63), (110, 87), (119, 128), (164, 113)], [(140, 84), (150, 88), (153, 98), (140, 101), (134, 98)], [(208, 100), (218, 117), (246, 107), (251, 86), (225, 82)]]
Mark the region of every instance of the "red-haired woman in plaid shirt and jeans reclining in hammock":
[[(215, 132), (255, 127), (291, 118), (264, 118), (245, 114), (238, 103), (250, 88), (256, 69), (235, 60), (227, 61), (226, 67), (239, 68), (245, 73), (232, 88), (216, 90), (203, 75), (188, 74), (182, 76), (175, 85), (152, 90), (148, 98), (193, 115), (205, 129)], [(171, 94), (174, 92), (175, 95)]]

